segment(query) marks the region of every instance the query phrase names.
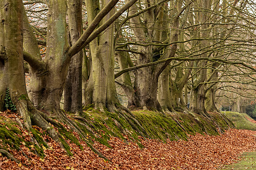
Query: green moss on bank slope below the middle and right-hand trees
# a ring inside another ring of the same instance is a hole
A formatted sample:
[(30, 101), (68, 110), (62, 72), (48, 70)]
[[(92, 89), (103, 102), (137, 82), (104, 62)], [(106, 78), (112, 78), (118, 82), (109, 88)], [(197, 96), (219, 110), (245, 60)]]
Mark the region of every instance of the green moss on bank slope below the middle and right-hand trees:
[[(176, 116), (174, 116), (171, 114), (164, 115), (163, 113), (154, 111), (134, 111), (133, 114), (150, 138), (160, 139), (163, 142), (167, 139), (171, 141), (179, 139), (187, 140), (187, 133), (218, 135), (217, 128), (225, 130), (232, 126), (227, 119), (224, 120), (225, 116), (223, 117), (218, 113), (213, 114), (210, 119), (190, 113), (177, 113), (175, 114)], [(132, 128), (121, 113), (110, 113), (108, 111), (100, 112), (97, 109), (89, 108), (86, 112), (82, 113), (81, 116), (86, 119), (86, 122), (81, 123), (86, 124), (93, 131), (93, 133), (91, 133), (80, 124), (80, 121), (77, 121), (77, 125), (80, 129), (82, 129), (88, 137), (90, 136), (90, 138), (88, 138), (89, 141), (90, 139), (94, 139), (110, 147), (108, 141), (112, 136), (121, 138), (126, 142), (126, 138), (123, 137), (122, 133), (125, 131), (125, 134), (130, 139), (137, 142), (139, 147), (143, 147), (138, 138), (141, 134)], [(130, 121), (135, 125), (137, 124), (132, 119), (130, 119)], [(143, 131), (139, 126), (137, 126), (137, 128)]]

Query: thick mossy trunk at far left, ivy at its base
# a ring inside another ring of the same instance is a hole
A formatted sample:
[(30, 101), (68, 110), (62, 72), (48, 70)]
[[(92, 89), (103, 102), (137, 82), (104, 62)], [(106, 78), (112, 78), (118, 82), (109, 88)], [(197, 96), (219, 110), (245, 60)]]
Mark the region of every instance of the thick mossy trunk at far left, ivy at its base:
[[(23, 66), (23, 22), (22, 1), (5, 0), (0, 2), (0, 50), (2, 67), (5, 69), (6, 85), (9, 87), (11, 100), (17, 112), (23, 117), (26, 128), (31, 127), (27, 112), (26, 86)], [(5, 76), (2, 76), (5, 78)], [(5, 88), (7, 88), (5, 87)], [(2, 91), (5, 95), (5, 91)], [(5, 96), (3, 96), (5, 97)], [(1, 104), (2, 105), (2, 104)]]

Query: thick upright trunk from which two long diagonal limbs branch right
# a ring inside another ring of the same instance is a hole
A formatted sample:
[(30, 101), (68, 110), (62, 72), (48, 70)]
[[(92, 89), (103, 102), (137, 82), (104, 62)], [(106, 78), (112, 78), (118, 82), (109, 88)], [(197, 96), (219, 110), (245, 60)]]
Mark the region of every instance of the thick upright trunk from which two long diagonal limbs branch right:
[(60, 100), (67, 78), (68, 63), (65, 51), (68, 47), (66, 25), (66, 1), (49, 1), (47, 25), (47, 50), (45, 62), (48, 66), (46, 87), (43, 91), (42, 109), (52, 112), (60, 110)]

